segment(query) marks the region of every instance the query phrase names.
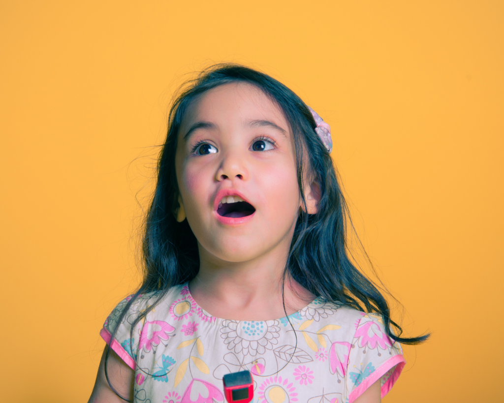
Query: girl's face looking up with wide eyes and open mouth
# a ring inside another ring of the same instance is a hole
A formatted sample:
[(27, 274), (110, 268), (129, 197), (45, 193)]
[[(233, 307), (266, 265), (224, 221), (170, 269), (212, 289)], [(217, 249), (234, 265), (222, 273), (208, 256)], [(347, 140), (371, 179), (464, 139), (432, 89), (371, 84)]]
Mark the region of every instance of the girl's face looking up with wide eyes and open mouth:
[(241, 262), (288, 252), (301, 206), (295, 148), (282, 111), (262, 91), (231, 83), (197, 99), (178, 133), (175, 168), (200, 257)]

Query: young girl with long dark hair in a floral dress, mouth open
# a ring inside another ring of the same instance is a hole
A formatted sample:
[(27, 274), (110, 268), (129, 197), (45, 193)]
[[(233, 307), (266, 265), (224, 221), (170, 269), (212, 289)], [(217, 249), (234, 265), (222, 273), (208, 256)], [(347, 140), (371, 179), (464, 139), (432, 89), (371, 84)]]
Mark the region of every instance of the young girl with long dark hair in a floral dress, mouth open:
[(214, 66), (170, 110), (145, 276), (100, 334), (90, 401), (379, 402), (405, 364), (378, 289), (352, 264), (330, 127), (287, 87)]

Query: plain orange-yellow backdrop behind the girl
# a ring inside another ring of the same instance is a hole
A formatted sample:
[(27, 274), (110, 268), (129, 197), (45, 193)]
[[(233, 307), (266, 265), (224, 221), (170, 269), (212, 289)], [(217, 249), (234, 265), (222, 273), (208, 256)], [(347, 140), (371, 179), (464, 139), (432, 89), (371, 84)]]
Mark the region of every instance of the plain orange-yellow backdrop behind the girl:
[(504, 400), (503, 22), (499, 1), (3, 1), (0, 399), (87, 401), (172, 91), (237, 61), (332, 125), (403, 325), (433, 332), (385, 401)]

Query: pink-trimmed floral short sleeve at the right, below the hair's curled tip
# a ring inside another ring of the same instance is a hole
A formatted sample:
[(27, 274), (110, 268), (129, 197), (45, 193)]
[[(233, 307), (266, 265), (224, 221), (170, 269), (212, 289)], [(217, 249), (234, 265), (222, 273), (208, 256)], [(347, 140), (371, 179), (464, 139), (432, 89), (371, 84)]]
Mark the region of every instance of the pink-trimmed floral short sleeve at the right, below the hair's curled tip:
[(381, 316), (361, 314), (348, 357), (349, 403), (377, 380), (381, 380), (383, 398), (406, 364), (401, 346), (388, 337)]

